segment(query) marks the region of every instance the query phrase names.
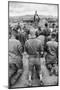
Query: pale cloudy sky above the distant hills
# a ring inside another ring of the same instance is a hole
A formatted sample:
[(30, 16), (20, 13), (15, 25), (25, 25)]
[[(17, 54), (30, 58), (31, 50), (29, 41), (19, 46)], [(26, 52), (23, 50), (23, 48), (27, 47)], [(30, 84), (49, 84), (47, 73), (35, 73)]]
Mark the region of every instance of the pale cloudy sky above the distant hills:
[(9, 16), (34, 15), (58, 16), (57, 5), (9, 2)]

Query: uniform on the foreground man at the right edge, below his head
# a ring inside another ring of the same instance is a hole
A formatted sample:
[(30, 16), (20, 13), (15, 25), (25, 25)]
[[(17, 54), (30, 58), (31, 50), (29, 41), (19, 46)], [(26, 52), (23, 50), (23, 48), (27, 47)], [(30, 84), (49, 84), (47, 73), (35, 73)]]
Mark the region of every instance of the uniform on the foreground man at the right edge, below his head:
[(47, 55), (46, 55), (46, 63), (54, 64), (57, 63), (57, 48), (58, 43), (54, 40), (47, 42)]

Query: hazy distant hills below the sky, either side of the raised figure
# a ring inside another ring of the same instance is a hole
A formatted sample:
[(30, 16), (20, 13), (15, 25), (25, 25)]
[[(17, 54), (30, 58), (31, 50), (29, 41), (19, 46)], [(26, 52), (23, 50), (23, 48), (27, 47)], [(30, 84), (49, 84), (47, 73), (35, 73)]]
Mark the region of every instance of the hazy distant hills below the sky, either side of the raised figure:
[[(9, 22), (15, 23), (15, 22), (20, 22), (22, 20), (33, 20), (33, 15), (25, 15), (25, 16), (14, 16), (14, 17), (9, 17)], [(44, 16), (44, 15), (39, 15), (40, 19), (51, 19), (51, 20), (57, 20), (57, 17), (53, 16)]]

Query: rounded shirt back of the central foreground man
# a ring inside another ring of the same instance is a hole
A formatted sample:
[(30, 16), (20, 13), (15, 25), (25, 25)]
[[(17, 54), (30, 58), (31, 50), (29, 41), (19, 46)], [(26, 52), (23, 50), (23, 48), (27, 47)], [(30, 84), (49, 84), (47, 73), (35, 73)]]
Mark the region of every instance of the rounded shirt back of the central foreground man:
[(31, 38), (25, 42), (25, 50), (29, 55), (37, 55), (42, 51), (41, 41), (37, 38)]

